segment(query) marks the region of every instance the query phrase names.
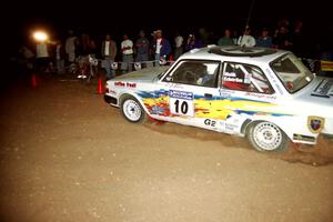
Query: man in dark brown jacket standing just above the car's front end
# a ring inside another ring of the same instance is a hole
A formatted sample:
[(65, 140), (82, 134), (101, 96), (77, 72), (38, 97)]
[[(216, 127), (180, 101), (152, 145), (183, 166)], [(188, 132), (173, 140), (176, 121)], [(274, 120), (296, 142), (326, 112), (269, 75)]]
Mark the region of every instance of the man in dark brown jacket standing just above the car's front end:
[(114, 70), (111, 68), (115, 54), (117, 54), (117, 46), (115, 42), (111, 39), (110, 34), (105, 36), (105, 40), (102, 42), (102, 67), (107, 71), (107, 79), (114, 78)]

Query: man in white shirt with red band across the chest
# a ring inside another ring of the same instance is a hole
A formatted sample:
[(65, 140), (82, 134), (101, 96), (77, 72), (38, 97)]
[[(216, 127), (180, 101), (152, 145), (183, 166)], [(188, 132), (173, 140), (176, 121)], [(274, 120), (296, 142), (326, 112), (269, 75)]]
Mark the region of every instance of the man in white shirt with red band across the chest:
[(121, 42), (122, 52), (122, 73), (131, 72), (133, 70), (133, 42), (129, 39), (128, 34), (123, 34), (123, 41)]

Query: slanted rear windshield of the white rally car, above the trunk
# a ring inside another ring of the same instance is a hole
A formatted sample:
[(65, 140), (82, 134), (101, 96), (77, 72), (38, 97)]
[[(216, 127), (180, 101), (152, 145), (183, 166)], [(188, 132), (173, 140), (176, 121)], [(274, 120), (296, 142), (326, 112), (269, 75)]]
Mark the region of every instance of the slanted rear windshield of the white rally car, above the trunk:
[(314, 78), (314, 74), (293, 53), (274, 60), (271, 62), (271, 68), (290, 93), (301, 90)]

